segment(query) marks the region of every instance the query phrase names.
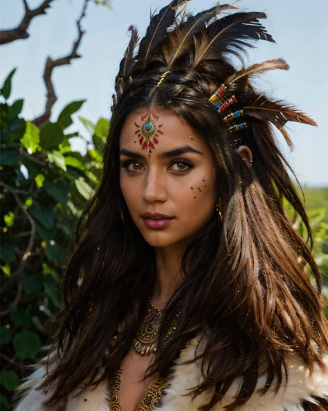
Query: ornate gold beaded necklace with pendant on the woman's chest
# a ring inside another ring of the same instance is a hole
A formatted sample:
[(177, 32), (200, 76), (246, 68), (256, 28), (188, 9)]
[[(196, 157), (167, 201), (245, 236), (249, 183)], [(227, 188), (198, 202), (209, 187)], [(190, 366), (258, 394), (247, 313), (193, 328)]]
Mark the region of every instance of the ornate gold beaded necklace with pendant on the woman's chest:
[[(178, 317), (181, 314), (181, 311), (176, 314)], [(152, 301), (150, 301), (148, 297), (148, 308), (147, 308), (147, 315), (140, 323), (138, 328), (138, 333), (134, 338), (132, 345), (137, 353), (143, 355), (149, 355), (150, 353), (156, 353), (158, 349), (158, 335), (159, 331), (161, 330), (162, 320), (163, 320), (163, 311), (159, 308), (156, 308)], [(172, 322), (170, 329), (163, 338), (163, 347), (167, 342), (169, 342), (172, 338), (172, 333), (176, 329), (176, 318), (175, 321)]]

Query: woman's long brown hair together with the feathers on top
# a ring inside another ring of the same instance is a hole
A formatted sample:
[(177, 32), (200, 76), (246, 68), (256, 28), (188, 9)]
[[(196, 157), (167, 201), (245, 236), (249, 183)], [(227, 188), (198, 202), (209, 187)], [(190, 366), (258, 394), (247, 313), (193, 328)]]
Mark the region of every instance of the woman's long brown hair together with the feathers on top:
[[(111, 117), (100, 185), (75, 231), (64, 276), (64, 309), (58, 315), (62, 325), (53, 341), (57, 362), (39, 387), (57, 380), (46, 405), (60, 401), (86, 376), (93, 383), (100, 366), (104, 373), (95, 385), (113, 375), (129, 351), (146, 297), (154, 292), (154, 248), (131, 220), (119, 184), (120, 130), (127, 116), (142, 107), (171, 110), (208, 143), (217, 162), (224, 214), (223, 222), (214, 214), (183, 252), (183, 283), (165, 309), (169, 317), (181, 300), (179, 324), (146, 376), (155, 371), (167, 375), (183, 344), (204, 326), (210, 330), (199, 354), (204, 380), (190, 396), (212, 384), (216, 389), (200, 410), (215, 405), (238, 377), (243, 378), (242, 388), (228, 410), (246, 403), (255, 390), (261, 355), (267, 362), (264, 392), (275, 376), (277, 388), (282, 383), (288, 350), (297, 351), (311, 370), (316, 363), (325, 369), (315, 347), (328, 349), (328, 329), (320, 272), (311, 255), (313, 233), (288, 170), (300, 184), (273, 130), (274, 126), (280, 130), (292, 147), (286, 121), (316, 123), (291, 105), (268, 100), (252, 85), (253, 78), (265, 71), (289, 69), (282, 59), (244, 67), (248, 47), (257, 40), (273, 42), (259, 23), (266, 18), (263, 12), (222, 17), (225, 10), (236, 7), (217, 6), (196, 16), (174, 15), (175, 11), (172, 15), (175, 3), (153, 15), (137, 54), (138, 33), (134, 26), (129, 28), (131, 42), (116, 78), (123, 90)], [(231, 56), (242, 61), (242, 69), (233, 65)], [(169, 70), (161, 87), (156, 87)], [(236, 134), (237, 141), (208, 101), (221, 83), (245, 107), (248, 128)], [(239, 157), (236, 143), (252, 150), (253, 167)], [(284, 199), (307, 227), (307, 241), (293, 228)], [(88, 317), (90, 300), (93, 311)], [(123, 319), (120, 338), (109, 344)], [(164, 323), (159, 344), (167, 326)]]

